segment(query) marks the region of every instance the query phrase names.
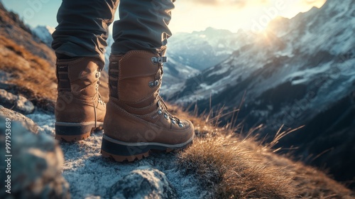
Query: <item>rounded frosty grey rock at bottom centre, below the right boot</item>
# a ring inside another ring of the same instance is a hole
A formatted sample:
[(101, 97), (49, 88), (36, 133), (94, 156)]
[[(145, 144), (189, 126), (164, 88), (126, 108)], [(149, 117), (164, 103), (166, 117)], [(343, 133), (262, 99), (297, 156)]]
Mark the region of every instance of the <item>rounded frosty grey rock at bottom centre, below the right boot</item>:
[(178, 195), (163, 172), (138, 167), (111, 186), (110, 198), (178, 198)]

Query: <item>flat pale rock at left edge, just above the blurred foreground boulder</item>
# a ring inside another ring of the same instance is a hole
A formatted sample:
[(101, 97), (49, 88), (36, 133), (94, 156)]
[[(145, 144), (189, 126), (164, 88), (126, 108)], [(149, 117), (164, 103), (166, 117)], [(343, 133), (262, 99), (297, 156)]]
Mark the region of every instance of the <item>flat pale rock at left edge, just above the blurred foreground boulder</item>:
[(29, 119), (23, 114), (15, 112), (11, 109), (6, 109), (5, 107), (0, 105), (0, 115), (4, 116), (5, 118), (11, 119), (11, 121), (21, 122), (23, 127), (26, 127), (26, 129), (33, 132), (34, 134), (38, 134), (38, 125), (35, 124), (32, 119)]

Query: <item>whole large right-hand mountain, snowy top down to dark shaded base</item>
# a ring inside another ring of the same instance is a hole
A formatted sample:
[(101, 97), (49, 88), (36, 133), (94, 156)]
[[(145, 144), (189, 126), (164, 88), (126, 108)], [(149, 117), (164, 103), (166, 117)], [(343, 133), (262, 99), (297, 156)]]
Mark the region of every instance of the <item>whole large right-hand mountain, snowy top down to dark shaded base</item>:
[[(349, 154), (355, 154), (354, 5), (354, 0), (328, 0), (322, 8), (294, 18), (276, 18), (255, 42), (188, 79), (173, 99), (186, 106), (197, 103), (200, 112), (208, 112), (210, 106), (230, 112), (243, 99), (239, 119), (244, 119), (244, 129), (266, 124), (261, 136), (275, 134), (283, 124), (284, 129), (305, 124), (278, 146), (298, 146), (295, 156), (326, 166), (338, 180), (351, 180), (355, 176), (355, 159), (349, 161)], [(230, 121), (235, 115), (223, 119)], [(340, 161), (348, 163), (339, 168)]]

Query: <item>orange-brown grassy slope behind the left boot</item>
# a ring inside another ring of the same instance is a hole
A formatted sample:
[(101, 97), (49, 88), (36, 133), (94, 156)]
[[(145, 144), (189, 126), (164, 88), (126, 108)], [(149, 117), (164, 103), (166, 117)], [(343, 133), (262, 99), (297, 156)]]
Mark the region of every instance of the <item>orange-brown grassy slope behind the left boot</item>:
[[(6, 11), (0, 2), (0, 89), (23, 95), (36, 107), (54, 112), (55, 53), (33, 36), (17, 14)], [(109, 91), (107, 73), (102, 72), (99, 91), (105, 102)]]

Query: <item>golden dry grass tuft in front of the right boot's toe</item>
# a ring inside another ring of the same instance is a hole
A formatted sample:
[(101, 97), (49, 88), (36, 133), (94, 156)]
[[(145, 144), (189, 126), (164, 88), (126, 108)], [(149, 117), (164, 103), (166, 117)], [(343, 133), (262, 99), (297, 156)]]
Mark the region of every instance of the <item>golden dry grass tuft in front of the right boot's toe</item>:
[(262, 161), (246, 141), (233, 136), (197, 139), (179, 156), (180, 165), (196, 173), (212, 198), (295, 198), (293, 178)]

